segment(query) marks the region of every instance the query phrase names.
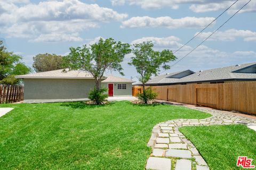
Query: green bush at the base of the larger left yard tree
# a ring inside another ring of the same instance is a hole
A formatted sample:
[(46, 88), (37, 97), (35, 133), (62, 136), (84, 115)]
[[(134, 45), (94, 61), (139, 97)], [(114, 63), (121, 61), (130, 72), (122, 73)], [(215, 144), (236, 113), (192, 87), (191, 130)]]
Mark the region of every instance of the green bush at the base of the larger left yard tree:
[(89, 92), (89, 99), (91, 99), (97, 105), (103, 104), (103, 101), (108, 97), (108, 95), (105, 94), (107, 91), (107, 88), (101, 88), (97, 90), (94, 87), (94, 89)]

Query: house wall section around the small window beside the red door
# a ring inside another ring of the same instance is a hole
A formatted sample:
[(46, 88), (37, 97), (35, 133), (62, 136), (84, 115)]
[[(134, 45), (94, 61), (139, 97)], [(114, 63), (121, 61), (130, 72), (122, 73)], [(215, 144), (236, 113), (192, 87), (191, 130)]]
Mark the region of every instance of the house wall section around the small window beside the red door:
[[(108, 88), (108, 83), (101, 83), (102, 87)], [(114, 96), (132, 96), (132, 83), (113, 83)], [(117, 84), (126, 84), (126, 89), (117, 89)], [(108, 92), (107, 92), (108, 94)]]

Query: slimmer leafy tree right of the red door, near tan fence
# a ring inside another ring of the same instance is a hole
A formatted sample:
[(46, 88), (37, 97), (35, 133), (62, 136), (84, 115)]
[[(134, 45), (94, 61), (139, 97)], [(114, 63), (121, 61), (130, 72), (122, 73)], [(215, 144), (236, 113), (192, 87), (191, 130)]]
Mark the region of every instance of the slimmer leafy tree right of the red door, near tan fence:
[(139, 81), (142, 83), (143, 87), (143, 100), (147, 104), (147, 94), (145, 91), (145, 84), (150, 79), (152, 75), (157, 75), (160, 68), (163, 70), (170, 69), (168, 63), (170, 61), (176, 60), (171, 50), (164, 49), (162, 52), (155, 51), (153, 49), (154, 44), (151, 41), (143, 42), (141, 44), (133, 45), (132, 49), (134, 57), (131, 57), (131, 62), (129, 65), (135, 66), (137, 72), (139, 73)]

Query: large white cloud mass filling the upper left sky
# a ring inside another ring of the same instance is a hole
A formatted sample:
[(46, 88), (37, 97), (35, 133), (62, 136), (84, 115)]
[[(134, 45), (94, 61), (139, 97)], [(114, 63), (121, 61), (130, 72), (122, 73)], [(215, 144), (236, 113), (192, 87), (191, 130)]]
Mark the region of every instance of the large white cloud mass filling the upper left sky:
[(117, 13), (110, 8), (78, 0), (45, 1), (20, 6), (15, 5), (14, 0), (12, 2), (0, 1), (0, 6), (5, 10), (1, 14), (0, 9), (0, 31), (7, 37), (30, 38), (31, 41), (53, 41), (52, 37), (56, 37), (56, 41), (81, 41), (79, 32), (97, 28), (101, 22), (121, 21), (127, 17), (127, 14)]

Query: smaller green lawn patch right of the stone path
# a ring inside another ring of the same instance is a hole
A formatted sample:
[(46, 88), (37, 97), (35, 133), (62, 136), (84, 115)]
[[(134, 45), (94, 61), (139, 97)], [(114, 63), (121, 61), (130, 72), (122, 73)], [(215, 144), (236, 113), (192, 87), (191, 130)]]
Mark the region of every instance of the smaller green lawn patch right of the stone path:
[(179, 129), (206, 160), (210, 169), (236, 167), (238, 156), (252, 158), (256, 165), (256, 132), (245, 125), (187, 126)]

